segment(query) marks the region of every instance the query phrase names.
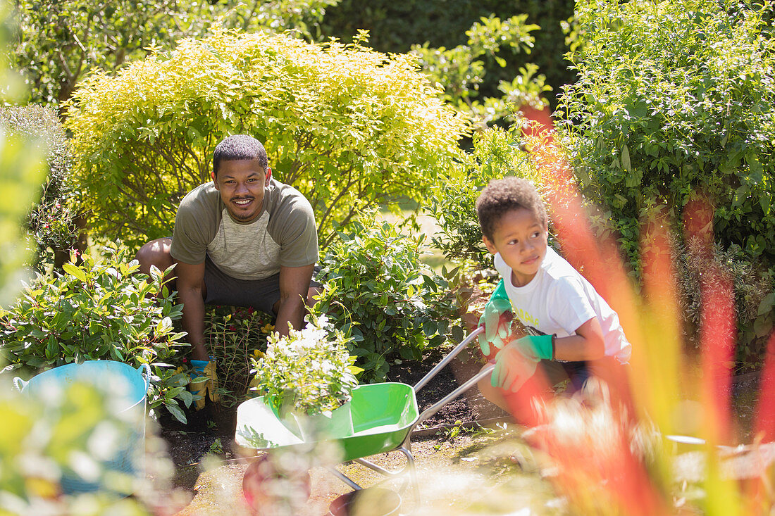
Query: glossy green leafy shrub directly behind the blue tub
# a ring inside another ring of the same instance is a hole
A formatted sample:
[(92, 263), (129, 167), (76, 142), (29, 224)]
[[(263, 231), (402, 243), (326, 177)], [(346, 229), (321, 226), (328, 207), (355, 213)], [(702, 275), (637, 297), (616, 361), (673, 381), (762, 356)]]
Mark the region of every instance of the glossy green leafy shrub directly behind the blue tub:
[[(171, 367), (177, 348), (188, 346), (173, 332), (181, 305), (164, 285), (137, 273), (124, 247), (106, 249), (97, 262), (84, 256), (81, 266), (66, 263), (60, 277), (38, 276), (15, 304), (0, 311), (0, 361), (5, 371), (31, 376), (35, 370), (92, 359), (151, 366), (148, 401), (164, 405), (185, 421), (178, 400), (192, 395), (188, 378)], [(177, 398), (177, 399), (176, 399)]]

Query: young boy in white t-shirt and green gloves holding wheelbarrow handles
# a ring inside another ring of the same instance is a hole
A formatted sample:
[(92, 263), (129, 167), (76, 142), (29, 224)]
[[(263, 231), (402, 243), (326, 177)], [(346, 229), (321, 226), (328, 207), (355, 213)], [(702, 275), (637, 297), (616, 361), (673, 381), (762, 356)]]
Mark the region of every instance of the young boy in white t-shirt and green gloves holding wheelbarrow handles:
[[(509, 410), (505, 395), (518, 392), (538, 367), (549, 385), (570, 378), (579, 389), (594, 370), (627, 363), (630, 344), (616, 312), (547, 245), (546, 208), (530, 181), (491, 181), (477, 199), (477, 214), (501, 275), (480, 319), (482, 353), (497, 353), (491, 381), (479, 383), (484, 397)], [(511, 335), (511, 313), (527, 336)]]

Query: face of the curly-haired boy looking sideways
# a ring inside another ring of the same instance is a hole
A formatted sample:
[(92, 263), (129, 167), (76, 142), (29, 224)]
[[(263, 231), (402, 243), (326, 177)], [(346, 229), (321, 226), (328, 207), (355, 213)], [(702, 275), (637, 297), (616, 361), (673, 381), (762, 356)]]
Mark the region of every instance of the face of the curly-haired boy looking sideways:
[(512, 267), (512, 283), (522, 287), (538, 273), (546, 256), (549, 231), (528, 209), (517, 208), (506, 212), (495, 225), (492, 239), (483, 236), (490, 253), (501, 253), (508, 267)]

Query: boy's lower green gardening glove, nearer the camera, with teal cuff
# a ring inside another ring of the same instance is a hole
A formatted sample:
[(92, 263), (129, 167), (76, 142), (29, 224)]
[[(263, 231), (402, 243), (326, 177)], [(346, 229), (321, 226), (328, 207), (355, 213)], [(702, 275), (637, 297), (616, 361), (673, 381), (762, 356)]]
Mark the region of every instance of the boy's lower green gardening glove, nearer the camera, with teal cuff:
[(509, 342), (495, 356), (493, 387), (517, 392), (536, 373), (541, 360), (554, 359), (554, 335), (528, 335)]

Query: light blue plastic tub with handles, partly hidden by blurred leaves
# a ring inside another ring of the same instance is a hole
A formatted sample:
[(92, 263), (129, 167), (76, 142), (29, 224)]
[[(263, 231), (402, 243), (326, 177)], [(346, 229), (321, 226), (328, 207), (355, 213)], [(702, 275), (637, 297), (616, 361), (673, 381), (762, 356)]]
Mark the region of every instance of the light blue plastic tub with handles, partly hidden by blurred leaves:
[[(93, 385), (102, 390), (112, 406), (111, 412), (126, 425), (122, 428), (122, 446), (112, 459), (101, 461), (105, 473), (118, 472), (130, 476), (145, 474), (146, 394), (150, 385), (150, 367), (137, 369), (112, 360), (90, 360), (54, 367), (29, 381), (14, 378), (15, 386), (29, 397), (46, 397), (52, 390), (62, 390), (75, 382)], [(103, 488), (99, 482), (87, 482), (72, 472), (63, 472), (60, 480), (66, 494), (86, 493)], [(122, 493), (129, 494), (129, 493)]]

